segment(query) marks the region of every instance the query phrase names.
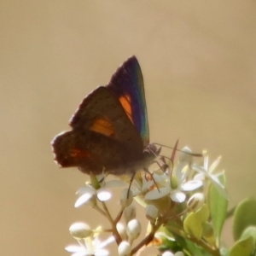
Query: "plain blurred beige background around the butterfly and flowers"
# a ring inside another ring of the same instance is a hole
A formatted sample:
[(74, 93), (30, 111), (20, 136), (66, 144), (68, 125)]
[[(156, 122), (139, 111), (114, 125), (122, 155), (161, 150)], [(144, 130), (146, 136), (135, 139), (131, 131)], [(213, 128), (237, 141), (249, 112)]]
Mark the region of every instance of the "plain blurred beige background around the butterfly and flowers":
[(230, 205), (254, 196), (255, 45), (254, 1), (1, 1), (1, 254), (68, 255), (69, 225), (98, 224), (73, 209), (85, 177), (60, 170), (49, 142), (130, 55), (151, 142), (221, 154)]

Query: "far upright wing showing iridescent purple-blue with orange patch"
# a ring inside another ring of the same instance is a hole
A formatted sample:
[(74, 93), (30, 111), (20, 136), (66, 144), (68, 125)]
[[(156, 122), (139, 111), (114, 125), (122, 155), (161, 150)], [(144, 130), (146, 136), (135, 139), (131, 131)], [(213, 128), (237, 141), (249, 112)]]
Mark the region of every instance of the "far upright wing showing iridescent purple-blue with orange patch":
[(147, 146), (149, 130), (143, 73), (136, 56), (131, 56), (118, 68), (107, 88), (119, 98), (125, 113), (140, 134), (143, 146)]

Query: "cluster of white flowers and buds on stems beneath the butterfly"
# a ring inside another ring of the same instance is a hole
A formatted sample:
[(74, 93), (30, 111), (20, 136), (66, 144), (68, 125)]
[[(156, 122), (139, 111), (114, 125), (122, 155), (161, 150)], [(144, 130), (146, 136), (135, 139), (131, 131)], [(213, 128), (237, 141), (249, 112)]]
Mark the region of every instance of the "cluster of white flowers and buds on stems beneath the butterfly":
[[(120, 209), (113, 218), (108, 211), (107, 202), (111, 199), (111, 188), (124, 186), (126, 183), (121, 180), (106, 181), (103, 172), (100, 176), (91, 176), (90, 183), (79, 189), (79, 198), (75, 202), (75, 207), (87, 205), (96, 209), (102, 216), (108, 219), (111, 224), (110, 230), (97, 228), (91, 230), (87, 224), (73, 224), (70, 227), (71, 235), (79, 242), (79, 246), (66, 247), (66, 250), (73, 253), (73, 256), (87, 255), (108, 255), (104, 249), (112, 241), (118, 245), (119, 256), (134, 255), (143, 247), (148, 245), (160, 246), (164, 236), (163, 227), (169, 221), (178, 219), (183, 222), (189, 212), (195, 212), (205, 204), (207, 189), (212, 184), (218, 192), (227, 198), (226, 191), (222, 183), (218, 180), (219, 174), (213, 174), (218, 166), (220, 158), (208, 166), (208, 157), (204, 156), (203, 165), (195, 164), (192, 152), (189, 148), (183, 148), (179, 154), (177, 164), (167, 163), (173, 166), (154, 171), (152, 175), (147, 172), (137, 172), (131, 184), (131, 189), (124, 189), (119, 198)], [(160, 163), (161, 164), (161, 163)], [(166, 163), (165, 163), (166, 164)], [(133, 199), (145, 207), (145, 216), (148, 218), (148, 230), (136, 246), (134, 241), (139, 238), (142, 232), (142, 225), (136, 218), (137, 207)], [(120, 224), (123, 216), (125, 224)], [(181, 230), (174, 229), (177, 235), (184, 234)], [(102, 232), (111, 232), (106, 241), (99, 241)], [(166, 236), (167, 237), (167, 236)], [(182, 251), (166, 251), (162, 256), (183, 256)]]

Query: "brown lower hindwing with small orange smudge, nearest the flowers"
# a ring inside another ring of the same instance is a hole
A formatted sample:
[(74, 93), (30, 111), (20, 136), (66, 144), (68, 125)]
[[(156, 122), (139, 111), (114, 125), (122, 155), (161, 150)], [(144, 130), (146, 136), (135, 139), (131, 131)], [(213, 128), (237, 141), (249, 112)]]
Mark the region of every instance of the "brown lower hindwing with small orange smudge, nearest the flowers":
[(100, 174), (103, 168), (106, 172), (118, 174), (119, 166), (137, 160), (123, 143), (95, 131), (63, 132), (55, 137), (52, 146), (55, 160), (62, 167), (76, 166), (88, 174)]

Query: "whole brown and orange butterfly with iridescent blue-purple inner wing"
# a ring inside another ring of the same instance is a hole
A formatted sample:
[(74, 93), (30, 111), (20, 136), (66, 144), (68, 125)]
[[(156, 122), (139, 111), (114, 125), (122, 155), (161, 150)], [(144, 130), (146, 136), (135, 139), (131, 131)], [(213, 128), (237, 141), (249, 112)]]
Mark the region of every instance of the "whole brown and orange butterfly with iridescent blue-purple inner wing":
[(135, 175), (159, 154), (149, 143), (143, 74), (136, 56), (126, 60), (106, 86), (80, 103), (64, 131), (51, 142), (55, 161), (86, 174)]

